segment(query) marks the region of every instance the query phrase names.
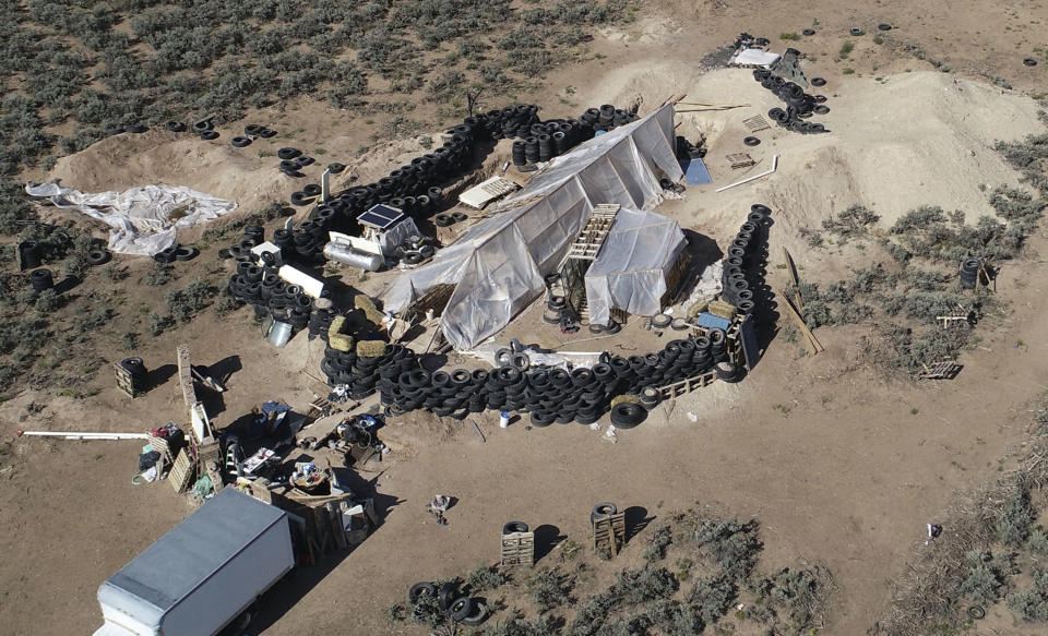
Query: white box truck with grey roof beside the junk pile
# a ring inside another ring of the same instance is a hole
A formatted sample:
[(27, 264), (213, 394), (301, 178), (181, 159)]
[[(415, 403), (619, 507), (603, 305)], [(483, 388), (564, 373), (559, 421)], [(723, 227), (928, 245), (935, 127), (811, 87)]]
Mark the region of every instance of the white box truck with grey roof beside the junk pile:
[(287, 514), (224, 489), (102, 584), (94, 636), (214, 636), (294, 565)]

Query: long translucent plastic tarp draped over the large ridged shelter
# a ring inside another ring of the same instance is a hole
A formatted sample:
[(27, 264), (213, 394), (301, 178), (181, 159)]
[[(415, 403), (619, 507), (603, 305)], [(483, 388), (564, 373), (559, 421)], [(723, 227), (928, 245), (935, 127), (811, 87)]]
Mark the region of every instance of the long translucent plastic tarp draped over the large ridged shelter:
[(662, 202), (659, 179), (682, 177), (674, 148), (674, 107), (666, 105), (556, 157), (432, 262), (397, 278), (383, 296), (386, 310), (455, 285), (441, 328), (455, 349), (474, 347), (543, 292), (544, 275), (560, 266), (594, 206)]

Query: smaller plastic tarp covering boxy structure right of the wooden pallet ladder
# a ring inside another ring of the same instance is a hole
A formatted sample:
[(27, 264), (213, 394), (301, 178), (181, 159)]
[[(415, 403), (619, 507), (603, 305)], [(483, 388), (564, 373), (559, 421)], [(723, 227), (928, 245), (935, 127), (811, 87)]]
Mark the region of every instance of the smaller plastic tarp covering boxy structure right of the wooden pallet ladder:
[(686, 243), (684, 232), (674, 219), (620, 208), (586, 272), (590, 322), (608, 324), (612, 309), (646, 316), (662, 311), (666, 274)]

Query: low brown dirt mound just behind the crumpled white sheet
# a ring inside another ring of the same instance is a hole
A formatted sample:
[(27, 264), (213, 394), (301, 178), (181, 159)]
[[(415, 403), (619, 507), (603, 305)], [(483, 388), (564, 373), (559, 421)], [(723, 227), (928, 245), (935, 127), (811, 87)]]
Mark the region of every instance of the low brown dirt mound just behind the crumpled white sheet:
[(259, 151), (270, 151), (272, 143), (235, 148), (228, 140), (224, 134), (207, 142), (162, 130), (121, 134), (62, 157), (43, 179), (84, 192), (120, 191), (151, 183), (186, 185), (236, 201), (247, 211), (287, 200), (301, 187), (298, 181), (307, 181), (282, 175), (275, 169), (279, 161), (275, 156), (259, 156)]

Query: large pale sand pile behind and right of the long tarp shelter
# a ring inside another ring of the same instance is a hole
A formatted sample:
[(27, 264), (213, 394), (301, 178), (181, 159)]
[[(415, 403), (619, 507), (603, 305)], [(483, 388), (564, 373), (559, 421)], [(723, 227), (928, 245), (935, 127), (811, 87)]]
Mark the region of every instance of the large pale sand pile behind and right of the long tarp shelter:
[[(714, 182), (691, 187), (686, 201), (669, 201), (659, 212), (671, 214), (703, 233), (734, 231), (751, 203), (764, 202), (779, 229), (820, 228), (822, 220), (854, 204), (866, 205), (892, 224), (920, 205), (964, 211), (973, 223), (992, 214), (986, 190), (1017, 184), (1017, 175), (993, 152), (998, 140), (1016, 140), (1044, 127), (1034, 100), (1016, 93), (937, 72), (834, 80), (810, 93), (829, 97), (830, 112), (815, 116), (833, 132), (800, 135), (773, 125), (757, 133), (761, 145), (747, 147), (751, 134), (742, 120), (767, 119), (783, 106), (753, 81), (749, 70), (724, 69), (700, 75), (679, 69), (628, 67), (609, 75), (603, 98), (622, 101), (641, 93), (654, 108), (667, 87), (687, 91), (691, 101), (750, 104), (713, 112), (682, 112), (678, 134), (694, 139), (701, 131), (710, 147), (705, 163)], [(658, 98), (652, 104), (651, 96)], [(680, 105), (679, 110), (689, 107)], [(749, 153), (759, 164), (731, 170), (725, 155)], [(771, 167), (775, 175), (716, 193), (715, 190)]]

